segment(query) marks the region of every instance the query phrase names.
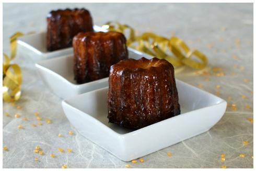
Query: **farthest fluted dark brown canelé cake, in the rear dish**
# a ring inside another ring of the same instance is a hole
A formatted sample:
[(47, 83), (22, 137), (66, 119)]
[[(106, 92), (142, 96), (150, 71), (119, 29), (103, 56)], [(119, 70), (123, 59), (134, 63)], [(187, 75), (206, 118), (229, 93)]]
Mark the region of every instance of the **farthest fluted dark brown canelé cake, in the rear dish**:
[(51, 11), (47, 16), (47, 50), (71, 47), (77, 33), (94, 31), (92, 25), (90, 13), (84, 8)]

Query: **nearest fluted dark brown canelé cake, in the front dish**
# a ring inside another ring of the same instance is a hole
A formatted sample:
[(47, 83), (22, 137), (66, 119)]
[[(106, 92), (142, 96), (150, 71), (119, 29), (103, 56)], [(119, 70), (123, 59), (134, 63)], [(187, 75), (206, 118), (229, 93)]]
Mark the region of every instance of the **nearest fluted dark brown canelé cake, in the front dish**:
[(165, 59), (128, 59), (111, 66), (108, 118), (142, 128), (180, 114), (174, 69)]

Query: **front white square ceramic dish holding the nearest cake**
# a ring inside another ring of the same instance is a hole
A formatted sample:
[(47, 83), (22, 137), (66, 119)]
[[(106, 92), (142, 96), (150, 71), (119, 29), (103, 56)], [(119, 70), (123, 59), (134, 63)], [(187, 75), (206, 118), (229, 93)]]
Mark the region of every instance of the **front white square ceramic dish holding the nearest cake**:
[(80, 134), (119, 159), (131, 161), (204, 133), (223, 116), (225, 100), (181, 81), (176, 83), (182, 114), (138, 130), (108, 123), (108, 87), (66, 99), (62, 107)]

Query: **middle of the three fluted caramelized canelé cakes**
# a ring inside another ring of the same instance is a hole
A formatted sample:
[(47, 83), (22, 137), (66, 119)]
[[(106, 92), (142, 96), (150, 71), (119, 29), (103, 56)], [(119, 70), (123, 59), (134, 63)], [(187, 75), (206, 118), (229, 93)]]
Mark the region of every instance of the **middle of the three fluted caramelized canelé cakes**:
[(108, 77), (112, 64), (128, 58), (124, 35), (114, 31), (78, 33), (73, 48), (77, 83)]

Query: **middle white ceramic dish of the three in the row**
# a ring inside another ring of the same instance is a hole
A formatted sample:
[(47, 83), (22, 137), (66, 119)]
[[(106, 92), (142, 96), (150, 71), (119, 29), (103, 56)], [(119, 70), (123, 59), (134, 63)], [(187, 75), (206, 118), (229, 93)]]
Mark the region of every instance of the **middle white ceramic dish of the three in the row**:
[[(152, 58), (134, 49), (128, 48), (128, 50), (129, 58)], [(63, 99), (108, 86), (108, 77), (85, 84), (76, 84), (73, 55), (42, 60), (36, 64), (36, 67), (44, 83), (54, 94)]]

